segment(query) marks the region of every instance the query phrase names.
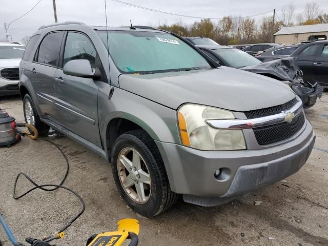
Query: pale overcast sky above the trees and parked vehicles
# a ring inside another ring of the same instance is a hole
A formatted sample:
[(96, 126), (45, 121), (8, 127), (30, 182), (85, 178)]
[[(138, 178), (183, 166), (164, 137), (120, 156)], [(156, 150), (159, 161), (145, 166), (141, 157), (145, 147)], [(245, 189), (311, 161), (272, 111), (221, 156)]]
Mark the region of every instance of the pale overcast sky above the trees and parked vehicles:
[[(111, 0), (107, 2), (107, 16), (109, 26), (129, 25), (130, 19), (134, 25), (158, 25), (171, 24), (177, 20), (191, 24), (198, 19), (178, 17), (142, 10), (127, 5), (122, 5)], [(263, 12), (280, 10), (288, 0), (122, 0), (147, 8), (165, 12), (192, 15), (200, 17), (221, 18), (227, 15), (255, 15)], [(311, 1), (311, 0), (310, 0)], [(5, 38), (4, 23), (10, 23), (15, 18), (25, 14), (38, 0), (1, 0), (0, 8), (0, 40)], [(301, 12), (305, 3), (309, 0), (295, 0), (296, 12)], [(316, 1), (324, 13), (328, 13), (328, 1)], [(58, 22), (68, 20), (81, 21), (90, 25), (105, 26), (104, 0), (56, 0)], [(269, 14), (266, 14), (269, 15)], [(265, 15), (263, 15), (265, 16)], [(262, 16), (256, 17), (261, 18)], [(217, 20), (213, 20), (217, 22)], [(54, 23), (52, 0), (42, 0), (30, 13), (10, 25), (8, 35), (12, 35), (13, 41), (19, 41), (26, 35), (31, 35), (42, 25)]]

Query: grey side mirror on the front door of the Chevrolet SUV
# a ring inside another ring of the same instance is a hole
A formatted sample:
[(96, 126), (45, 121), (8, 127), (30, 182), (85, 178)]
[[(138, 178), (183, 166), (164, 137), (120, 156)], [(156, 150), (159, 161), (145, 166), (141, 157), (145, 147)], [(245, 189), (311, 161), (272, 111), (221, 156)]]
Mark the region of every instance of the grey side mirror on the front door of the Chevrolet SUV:
[(68, 61), (64, 68), (63, 73), (71, 76), (99, 79), (101, 72), (98, 68), (92, 69), (90, 61), (87, 59), (77, 59)]

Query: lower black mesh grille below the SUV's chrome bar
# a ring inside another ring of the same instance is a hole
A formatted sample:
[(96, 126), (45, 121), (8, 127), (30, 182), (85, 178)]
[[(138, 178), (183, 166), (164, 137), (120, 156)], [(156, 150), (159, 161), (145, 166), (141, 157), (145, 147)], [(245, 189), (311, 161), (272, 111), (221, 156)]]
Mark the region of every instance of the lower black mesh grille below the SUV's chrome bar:
[(291, 122), (283, 122), (269, 127), (253, 129), (259, 145), (269, 145), (292, 137), (304, 125), (303, 112), (297, 115)]

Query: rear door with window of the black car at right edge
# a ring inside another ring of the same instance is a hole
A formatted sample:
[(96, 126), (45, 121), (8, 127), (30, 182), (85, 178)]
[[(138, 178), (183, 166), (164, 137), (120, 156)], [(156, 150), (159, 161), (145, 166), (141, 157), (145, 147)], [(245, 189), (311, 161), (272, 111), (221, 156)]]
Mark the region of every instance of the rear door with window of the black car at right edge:
[(313, 75), (313, 61), (316, 58), (316, 54), (320, 44), (312, 44), (310, 46), (303, 47), (303, 49), (297, 55), (297, 63), (299, 68), (303, 72), (303, 80), (314, 82)]

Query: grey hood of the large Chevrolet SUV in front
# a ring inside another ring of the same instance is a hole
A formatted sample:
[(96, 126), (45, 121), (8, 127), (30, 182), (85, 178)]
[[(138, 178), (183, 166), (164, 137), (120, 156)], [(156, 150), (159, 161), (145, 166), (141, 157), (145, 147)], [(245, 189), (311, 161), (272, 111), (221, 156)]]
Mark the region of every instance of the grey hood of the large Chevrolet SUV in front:
[(278, 80), (223, 66), (186, 72), (121, 74), (118, 80), (121, 89), (172, 109), (195, 103), (248, 111), (284, 104), (295, 97)]

